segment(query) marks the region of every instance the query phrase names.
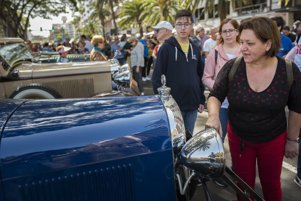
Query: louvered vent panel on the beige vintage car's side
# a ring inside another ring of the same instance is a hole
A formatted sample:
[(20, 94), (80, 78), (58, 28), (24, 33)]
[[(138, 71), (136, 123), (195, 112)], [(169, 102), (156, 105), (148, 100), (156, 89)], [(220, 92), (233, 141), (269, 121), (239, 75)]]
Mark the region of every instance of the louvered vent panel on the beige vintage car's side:
[(57, 91), (63, 98), (86, 98), (95, 94), (92, 77), (47, 80), (43, 84)]

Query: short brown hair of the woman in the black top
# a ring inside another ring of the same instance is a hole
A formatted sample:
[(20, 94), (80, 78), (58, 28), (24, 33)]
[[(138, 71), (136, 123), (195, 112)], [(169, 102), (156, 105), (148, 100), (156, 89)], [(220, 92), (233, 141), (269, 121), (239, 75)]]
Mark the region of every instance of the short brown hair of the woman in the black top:
[(262, 43), (266, 43), (271, 39), (271, 48), (266, 52), (267, 57), (274, 57), (281, 48), (281, 36), (276, 24), (267, 17), (252, 17), (250, 20), (244, 21), (238, 27), (239, 36), (242, 30), (253, 30), (256, 38)]

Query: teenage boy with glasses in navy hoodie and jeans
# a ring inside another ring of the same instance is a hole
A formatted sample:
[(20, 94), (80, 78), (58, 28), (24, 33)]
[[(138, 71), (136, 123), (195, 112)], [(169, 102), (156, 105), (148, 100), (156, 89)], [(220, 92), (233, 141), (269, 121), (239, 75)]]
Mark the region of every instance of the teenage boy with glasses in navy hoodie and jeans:
[(193, 133), (197, 112), (204, 110), (205, 95), (202, 83), (203, 66), (200, 49), (188, 39), (193, 29), (192, 14), (180, 10), (175, 15), (176, 37), (166, 39), (158, 51), (152, 82), (154, 93), (161, 87), (161, 75), (180, 107), (185, 128)]

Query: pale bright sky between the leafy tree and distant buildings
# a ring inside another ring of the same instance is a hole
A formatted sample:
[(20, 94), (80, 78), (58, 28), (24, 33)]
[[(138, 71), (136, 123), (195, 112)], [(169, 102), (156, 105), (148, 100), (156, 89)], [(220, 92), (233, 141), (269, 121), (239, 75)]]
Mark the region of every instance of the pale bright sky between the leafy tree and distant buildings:
[[(63, 16), (67, 17), (67, 23), (73, 20), (72, 17), (72, 11), (70, 11), (69, 8), (66, 9), (66, 13), (61, 13), (58, 15), (58, 17), (55, 16), (50, 16), (51, 20), (46, 20), (43, 19), (41, 17), (36, 17), (33, 19), (29, 19), (29, 23), (30, 23), (30, 30), (35, 30), (35, 31), (31, 31), (33, 33), (34, 36), (44, 36), (44, 37), (48, 37), (50, 32), (46, 31), (44, 29), (48, 29), (51, 30), (52, 29), (52, 24), (62, 24), (63, 21), (61, 20), (61, 18)], [(40, 31), (40, 27), (42, 27), (43, 31)]]

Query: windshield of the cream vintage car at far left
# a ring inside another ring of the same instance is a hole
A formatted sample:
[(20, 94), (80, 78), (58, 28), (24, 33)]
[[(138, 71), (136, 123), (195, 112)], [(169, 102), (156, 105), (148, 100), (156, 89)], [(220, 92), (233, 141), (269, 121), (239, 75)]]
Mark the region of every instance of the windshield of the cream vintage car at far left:
[(23, 43), (2, 45), (0, 46), (0, 54), (10, 66), (12, 66), (15, 61), (20, 59), (33, 59), (33, 55)]

